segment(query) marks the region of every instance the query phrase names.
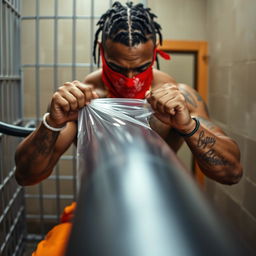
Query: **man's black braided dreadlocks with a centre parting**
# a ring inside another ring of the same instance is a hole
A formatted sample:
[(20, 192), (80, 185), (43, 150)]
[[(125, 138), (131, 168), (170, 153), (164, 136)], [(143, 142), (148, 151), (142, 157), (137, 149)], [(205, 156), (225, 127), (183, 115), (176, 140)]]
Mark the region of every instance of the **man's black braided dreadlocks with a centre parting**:
[[(111, 39), (126, 46), (135, 46), (149, 39), (156, 43), (158, 35), (159, 42), (162, 44), (161, 26), (154, 21), (157, 16), (150, 11), (151, 9), (144, 8), (143, 4), (133, 5), (133, 2), (127, 2), (126, 6), (123, 6), (120, 2), (115, 2), (97, 23), (99, 27), (94, 39), (94, 62), (96, 63), (96, 49), (101, 32), (102, 42)], [(100, 49), (98, 49), (98, 67), (100, 65), (99, 51)], [(157, 67), (159, 67), (158, 59)]]

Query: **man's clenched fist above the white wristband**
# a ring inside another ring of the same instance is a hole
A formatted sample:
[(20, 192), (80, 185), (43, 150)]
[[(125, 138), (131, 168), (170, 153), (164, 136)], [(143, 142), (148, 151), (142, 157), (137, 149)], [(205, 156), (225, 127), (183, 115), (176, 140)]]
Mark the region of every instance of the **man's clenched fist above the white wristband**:
[(66, 82), (53, 94), (47, 123), (57, 128), (77, 120), (78, 110), (96, 98), (98, 95), (91, 85), (79, 81)]

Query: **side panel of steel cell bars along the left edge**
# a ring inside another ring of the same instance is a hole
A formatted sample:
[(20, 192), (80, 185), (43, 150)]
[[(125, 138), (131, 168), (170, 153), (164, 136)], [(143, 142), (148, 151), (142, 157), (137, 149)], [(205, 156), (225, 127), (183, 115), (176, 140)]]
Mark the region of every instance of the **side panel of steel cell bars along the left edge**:
[[(0, 120), (21, 123), (20, 1), (0, 1)], [(22, 255), (24, 190), (14, 178), (19, 139), (0, 134), (0, 255)]]

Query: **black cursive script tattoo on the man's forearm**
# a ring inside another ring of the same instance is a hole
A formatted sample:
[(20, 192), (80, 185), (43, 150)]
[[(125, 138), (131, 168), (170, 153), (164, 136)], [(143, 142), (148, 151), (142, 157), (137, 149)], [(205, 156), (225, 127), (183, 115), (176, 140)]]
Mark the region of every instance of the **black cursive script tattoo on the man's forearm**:
[(223, 156), (219, 155), (216, 150), (213, 149), (215, 143), (215, 137), (205, 136), (204, 131), (201, 131), (196, 146), (198, 149), (206, 149), (207, 151), (199, 154), (198, 158), (202, 159), (210, 165), (231, 166), (229, 161), (227, 161)]

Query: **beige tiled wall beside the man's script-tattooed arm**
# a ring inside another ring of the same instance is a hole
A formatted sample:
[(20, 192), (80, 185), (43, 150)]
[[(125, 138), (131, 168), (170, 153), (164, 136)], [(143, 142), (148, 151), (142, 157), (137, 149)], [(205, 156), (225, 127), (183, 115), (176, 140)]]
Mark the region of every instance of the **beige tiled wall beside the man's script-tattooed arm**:
[(244, 176), (235, 186), (207, 181), (217, 207), (256, 252), (256, 1), (208, 0), (209, 108), (238, 142)]

